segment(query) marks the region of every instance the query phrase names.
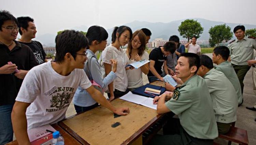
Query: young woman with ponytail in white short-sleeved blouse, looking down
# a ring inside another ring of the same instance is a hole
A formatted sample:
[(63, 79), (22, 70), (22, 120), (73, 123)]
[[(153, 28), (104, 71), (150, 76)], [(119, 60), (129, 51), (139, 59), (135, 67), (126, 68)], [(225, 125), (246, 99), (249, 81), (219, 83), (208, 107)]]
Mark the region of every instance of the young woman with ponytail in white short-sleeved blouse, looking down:
[(105, 75), (108, 75), (111, 72), (112, 62), (111, 59), (115, 59), (117, 63), (117, 72), (116, 79), (112, 83), (108, 85), (109, 100), (113, 100), (115, 98), (119, 98), (127, 93), (128, 79), (126, 75), (126, 70), (129, 67), (125, 67), (128, 59), (126, 56), (125, 50), (120, 48), (121, 46), (125, 46), (130, 42), (130, 38), (132, 38), (131, 28), (127, 26), (115, 27), (112, 33), (112, 44), (107, 46), (101, 54), (99, 61), (102, 62), (105, 69)]

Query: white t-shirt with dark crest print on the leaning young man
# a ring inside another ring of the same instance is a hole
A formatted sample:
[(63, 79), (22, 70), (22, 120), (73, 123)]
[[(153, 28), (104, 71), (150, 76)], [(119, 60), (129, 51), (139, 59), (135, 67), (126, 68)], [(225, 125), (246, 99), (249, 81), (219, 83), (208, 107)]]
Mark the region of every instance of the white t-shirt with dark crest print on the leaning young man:
[(16, 101), (31, 103), (26, 112), (28, 129), (64, 119), (78, 86), (83, 89), (91, 86), (83, 69), (74, 69), (63, 76), (55, 72), (51, 61), (32, 68), (16, 98)]

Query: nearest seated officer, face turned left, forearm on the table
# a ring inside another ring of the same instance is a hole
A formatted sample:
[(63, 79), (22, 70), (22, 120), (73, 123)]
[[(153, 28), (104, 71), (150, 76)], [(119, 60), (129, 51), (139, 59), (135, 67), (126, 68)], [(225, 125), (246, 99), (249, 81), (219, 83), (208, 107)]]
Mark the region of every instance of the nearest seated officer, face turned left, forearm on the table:
[[(197, 54), (180, 55), (175, 69), (176, 76), (184, 83), (176, 87), (172, 96), (164, 94), (153, 100), (154, 103), (158, 101), (157, 113), (173, 112), (179, 116), (179, 133), (155, 136), (150, 144), (210, 145), (218, 136), (213, 108), (209, 107), (212, 106), (212, 101), (207, 84), (203, 78), (196, 75), (199, 65), (200, 59)], [(181, 83), (176, 77), (174, 79)], [(172, 122), (169, 124), (177, 126)]]

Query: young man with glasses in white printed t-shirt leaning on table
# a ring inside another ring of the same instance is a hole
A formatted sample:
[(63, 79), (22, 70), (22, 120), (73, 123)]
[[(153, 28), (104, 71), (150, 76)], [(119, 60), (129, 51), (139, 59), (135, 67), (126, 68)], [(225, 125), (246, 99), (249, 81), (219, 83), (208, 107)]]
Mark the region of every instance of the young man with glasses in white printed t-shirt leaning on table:
[[(129, 108), (115, 108), (92, 86), (84, 64), (88, 40), (79, 31), (65, 30), (56, 39), (56, 57), (29, 71), (12, 111), (13, 130), (19, 144), (30, 144), (27, 129), (54, 124), (65, 118), (78, 87), (113, 113), (127, 115)], [(85, 96), (82, 96), (85, 97)]]

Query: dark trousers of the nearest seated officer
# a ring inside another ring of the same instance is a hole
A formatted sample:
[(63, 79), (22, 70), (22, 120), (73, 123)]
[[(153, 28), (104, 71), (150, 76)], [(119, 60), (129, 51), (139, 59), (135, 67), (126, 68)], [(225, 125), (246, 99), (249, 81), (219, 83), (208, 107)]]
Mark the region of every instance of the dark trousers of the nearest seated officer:
[[(171, 122), (170, 122), (171, 121)], [(190, 136), (181, 126), (180, 120), (171, 118), (168, 120), (167, 125), (171, 131), (169, 134), (156, 135), (150, 142), (150, 145), (212, 145), (213, 140), (198, 139)]]

